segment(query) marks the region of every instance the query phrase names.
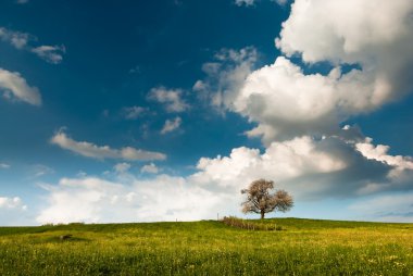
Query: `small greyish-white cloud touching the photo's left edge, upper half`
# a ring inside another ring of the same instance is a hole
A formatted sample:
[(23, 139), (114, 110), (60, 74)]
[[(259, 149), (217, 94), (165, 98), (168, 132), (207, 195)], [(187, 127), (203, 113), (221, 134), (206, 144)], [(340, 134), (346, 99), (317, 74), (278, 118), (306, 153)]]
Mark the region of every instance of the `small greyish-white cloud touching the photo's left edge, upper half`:
[(41, 104), (39, 89), (29, 86), (21, 74), (0, 68), (0, 91), (5, 98), (15, 98), (34, 105)]

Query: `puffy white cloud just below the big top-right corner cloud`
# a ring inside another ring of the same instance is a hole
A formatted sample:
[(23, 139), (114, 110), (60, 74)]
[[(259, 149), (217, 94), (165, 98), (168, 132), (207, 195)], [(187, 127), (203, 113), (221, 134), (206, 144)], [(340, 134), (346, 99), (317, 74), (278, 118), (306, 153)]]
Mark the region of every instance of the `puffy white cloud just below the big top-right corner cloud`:
[(248, 134), (265, 143), (302, 135), (330, 135), (350, 115), (380, 106), (390, 92), (388, 84), (353, 70), (341, 75), (305, 75), (286, 58), (251, 73), (231, 109), (259, 126)]

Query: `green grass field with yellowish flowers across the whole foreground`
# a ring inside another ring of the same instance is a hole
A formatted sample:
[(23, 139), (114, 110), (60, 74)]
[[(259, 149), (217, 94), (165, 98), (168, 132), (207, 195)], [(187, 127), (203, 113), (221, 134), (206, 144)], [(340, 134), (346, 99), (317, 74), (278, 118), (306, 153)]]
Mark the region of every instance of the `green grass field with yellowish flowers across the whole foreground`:
[(413, 275), (413, 224), (252, 222), (283, 230), (213, 221), (0, 227), (0, 275)]

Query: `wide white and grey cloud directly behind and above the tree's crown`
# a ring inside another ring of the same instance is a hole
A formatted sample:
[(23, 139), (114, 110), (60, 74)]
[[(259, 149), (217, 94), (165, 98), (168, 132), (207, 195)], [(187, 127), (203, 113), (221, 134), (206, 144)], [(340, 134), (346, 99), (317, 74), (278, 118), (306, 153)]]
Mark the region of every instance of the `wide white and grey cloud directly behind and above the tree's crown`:
[(201, 172), (191, 178), (236, 192), (246, 183), (264, 177), (274, 179), (299, 200), (353, 198), (413, 188), (410, 158), (393, 156), (387, 151), (375, 155), (372, 151), (388, 147), (374, 146), (370, 138), (342, 136), (346, 135), (353, 139), (331, 136), (317, 140), (304, 136), (272, 142), (263, 153), (245, 147), (233, 149), (229, 156), (201, 159)]

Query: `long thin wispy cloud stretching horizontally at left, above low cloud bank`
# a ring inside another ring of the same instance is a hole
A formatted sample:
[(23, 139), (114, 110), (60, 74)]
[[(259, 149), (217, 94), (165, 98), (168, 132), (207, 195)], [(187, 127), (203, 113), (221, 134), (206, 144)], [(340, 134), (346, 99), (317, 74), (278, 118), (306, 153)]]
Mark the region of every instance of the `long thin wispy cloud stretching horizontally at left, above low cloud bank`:
[(160, 152), (145, 151), (132, 147), (112, 149), (109, 146), (97, 146), (87, 141), (76, 141), (68, 137), (63, 130), (57, 133), (50, 139), (50, 142), (61, 147), (62, 149), (93, 159), (122, 159), (128, 161), (166, 159), (166, 155)]

